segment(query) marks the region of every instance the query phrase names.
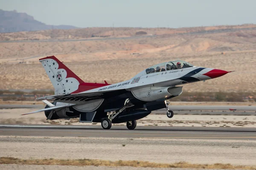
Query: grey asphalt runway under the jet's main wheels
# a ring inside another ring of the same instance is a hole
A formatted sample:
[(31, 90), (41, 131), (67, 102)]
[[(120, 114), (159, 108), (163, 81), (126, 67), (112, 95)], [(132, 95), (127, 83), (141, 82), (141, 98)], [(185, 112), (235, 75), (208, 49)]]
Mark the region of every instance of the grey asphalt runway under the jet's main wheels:
[(256, 140), (256, 128), (231, 127), (145, 127), (128, 130), (125, 126), (0, 125), (2, 136), (59, 136), (103, 138), (167, 138)]

